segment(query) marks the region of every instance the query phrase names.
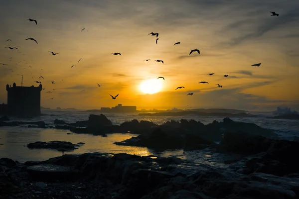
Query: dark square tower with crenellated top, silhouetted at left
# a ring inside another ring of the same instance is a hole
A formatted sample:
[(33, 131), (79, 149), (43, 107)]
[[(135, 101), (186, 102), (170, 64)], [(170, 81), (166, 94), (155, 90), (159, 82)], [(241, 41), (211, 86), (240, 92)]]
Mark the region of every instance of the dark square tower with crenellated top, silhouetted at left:
[[(23, 80), (23, 78), (22, 78)], [(20, 87), (13, 83), (12, 87), (6, 85), (7, 91), (7, 112), (9, 115), (35, 116), (40, 114), (40, 91), (42, 85), (38, 87)]]

